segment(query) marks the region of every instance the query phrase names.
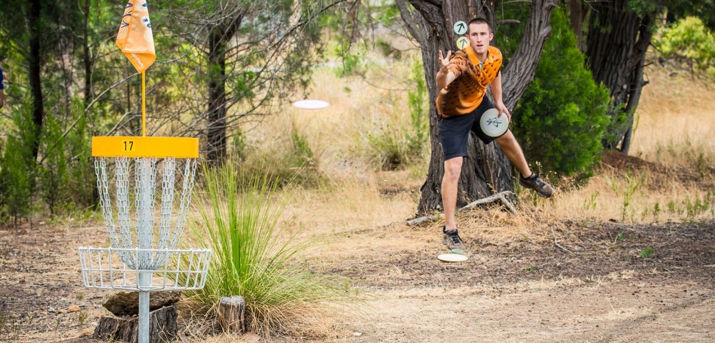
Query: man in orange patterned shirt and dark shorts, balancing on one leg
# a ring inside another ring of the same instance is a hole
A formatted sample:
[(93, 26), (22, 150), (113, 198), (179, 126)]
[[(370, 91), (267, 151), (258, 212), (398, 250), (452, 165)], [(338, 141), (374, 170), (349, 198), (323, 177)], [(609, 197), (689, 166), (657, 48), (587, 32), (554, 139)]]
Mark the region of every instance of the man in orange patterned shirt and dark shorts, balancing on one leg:
[[(457, 186), (462, 170), (463, 158), (467, 157), (467, 141), (470, 131), (480, 140), (489, 144), (496, 140), (506, 157), (521, 173), (519, 182), (533, 189), (538, 195), (549, 198), (553, 194), (551, 185), (531, 173), (523, 151), (511, 130), (499, 137), (491, 137), (480, 128), (482, 114), (496, 108), (500, 116), (511, 121), (511, 113), (504, 106), (501, 93), (501, 51), (489, 42), (494, 38), (489, 22), (483, 18), (473, 19), (468, 25), (470, 45), (452, 56), (452, 51), (443, 56), (440, 51), (440, 71), (437, 73), (437, 112), (440, 117), (439, 134), (445, 160), (442, 178), (442, 204), (445, 210), (443, 240), (449, 249), (463, 250), (455, 223), (457, 207)], [(485, 96), (487, 85), (491, 86), (494, 103)]]

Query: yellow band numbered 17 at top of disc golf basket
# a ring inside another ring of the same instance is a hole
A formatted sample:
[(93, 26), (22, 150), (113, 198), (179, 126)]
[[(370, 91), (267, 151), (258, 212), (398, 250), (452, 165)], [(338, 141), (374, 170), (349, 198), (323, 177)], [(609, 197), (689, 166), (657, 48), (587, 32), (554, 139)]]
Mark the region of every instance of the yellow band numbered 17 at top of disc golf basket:
[(92, 137), (94, 157), (198, 158), (199, 138)]

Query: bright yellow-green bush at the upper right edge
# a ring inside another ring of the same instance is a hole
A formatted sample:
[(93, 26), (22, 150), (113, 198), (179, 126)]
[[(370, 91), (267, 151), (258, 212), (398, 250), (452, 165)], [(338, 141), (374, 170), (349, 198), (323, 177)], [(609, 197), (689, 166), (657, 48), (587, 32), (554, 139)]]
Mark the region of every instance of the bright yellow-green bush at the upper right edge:
[(698, 17), (686, 16), (660, 28), (653, 45), (664, 58), (684, 59), (694, 71), (715, 76), (715, 36)]

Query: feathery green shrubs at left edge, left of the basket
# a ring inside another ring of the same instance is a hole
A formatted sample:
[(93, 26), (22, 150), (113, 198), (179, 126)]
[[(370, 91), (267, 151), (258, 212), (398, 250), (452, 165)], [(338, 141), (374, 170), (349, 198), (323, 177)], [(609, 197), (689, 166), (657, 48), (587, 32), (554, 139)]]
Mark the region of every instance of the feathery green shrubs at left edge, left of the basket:
[(29, 104), (12, 108), (0, 163), (0, 222), (17, 222), (45, 210), (59, 215), (94, 207), (96, 178), (82, 101), (73, 99), (71, 116), (64, 118), (72, 123), (71, 129), (61, 126), (56, 113), (46, 113), (37, 160), (31, 151), (37, 139), (31, 108)]

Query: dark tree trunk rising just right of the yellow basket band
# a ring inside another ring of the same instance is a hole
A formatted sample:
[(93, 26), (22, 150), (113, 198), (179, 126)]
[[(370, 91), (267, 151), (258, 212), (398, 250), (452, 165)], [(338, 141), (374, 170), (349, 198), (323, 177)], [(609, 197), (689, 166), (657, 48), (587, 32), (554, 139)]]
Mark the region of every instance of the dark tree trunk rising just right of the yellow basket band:
[(209, 34), (208, 160), (220, 164), (226, 158), (226, 51), (241, 24), (241, 17), (218, 24)]

